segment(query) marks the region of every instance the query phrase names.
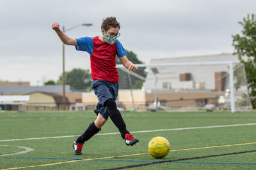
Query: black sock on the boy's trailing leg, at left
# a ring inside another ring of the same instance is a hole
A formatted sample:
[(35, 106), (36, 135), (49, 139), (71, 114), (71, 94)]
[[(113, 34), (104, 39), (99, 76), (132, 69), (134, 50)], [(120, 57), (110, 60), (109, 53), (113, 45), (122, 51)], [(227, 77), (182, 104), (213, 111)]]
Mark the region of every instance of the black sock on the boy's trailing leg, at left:
[(92, 124), (88, 126), (86, 131), (76, 139), (76, 143), (84, 143), (85, 141), (88, 141), (90, 138), (92, 138), (93, 135), (97, 134), (97, 132), (99, 132), (100, 130), (101, 129), (98, 129), (95, 126), (94, 122), (92, 122)]

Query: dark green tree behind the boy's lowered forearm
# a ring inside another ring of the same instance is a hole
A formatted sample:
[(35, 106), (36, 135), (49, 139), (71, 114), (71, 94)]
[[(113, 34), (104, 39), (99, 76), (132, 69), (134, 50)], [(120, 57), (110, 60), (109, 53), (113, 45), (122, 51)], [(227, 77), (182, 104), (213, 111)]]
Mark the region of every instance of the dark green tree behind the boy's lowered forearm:
[[(132, 52), (132, 51), (128, 51), (126, 50), (127, 52), (127, 58), (134, 64), (143, 64), (143, 62), (141, 62), (137, 55)], [(118, 57), (116, 57), (116, 64), (122, 64), (120, 62), (120, 60), (118, 59)], [(118, 71), (118, 74), (119, 74), (119, 87), (120, 89), (141, 89), (142, 86), (143, 86), (143, 82), (144, 80), (140, 80), (134, 76), (130, 76), (131, 78), (131, 85), (132, 87), (130, 87), (130, 82), (129, 82), (129, 75), (125, 72), (125, 71), (122, 71), (122, 69), (117, 69)], [(143, 76), (143, 77), (146, 77), (147, 76), (147, 73), (145, 72), (145, 67), (143, 68), (139, 68), (136, 72), (136, 74), (139, 74), (140, 76)]]

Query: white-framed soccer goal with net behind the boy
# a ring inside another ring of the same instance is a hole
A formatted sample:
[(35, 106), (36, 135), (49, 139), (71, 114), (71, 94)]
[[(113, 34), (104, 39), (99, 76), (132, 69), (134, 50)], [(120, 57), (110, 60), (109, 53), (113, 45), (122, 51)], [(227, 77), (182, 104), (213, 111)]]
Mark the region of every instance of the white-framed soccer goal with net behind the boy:
[(252, 110), (243, 64), (180, 62), (117, 65), (124, 110)]

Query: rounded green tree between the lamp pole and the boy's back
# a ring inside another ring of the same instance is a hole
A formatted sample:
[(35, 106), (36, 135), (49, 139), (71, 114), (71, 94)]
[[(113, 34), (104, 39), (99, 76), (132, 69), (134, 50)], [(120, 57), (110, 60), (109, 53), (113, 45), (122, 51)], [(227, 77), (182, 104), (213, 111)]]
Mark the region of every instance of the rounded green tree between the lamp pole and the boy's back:
[[(90, 89), (91, 77), (90, 69), (74, 68), (72, 71), (65, 72), (65, 84), (70, 85), (72, 90)], [(59, 77), (57, 84), (62, 84), (62, 76)]]

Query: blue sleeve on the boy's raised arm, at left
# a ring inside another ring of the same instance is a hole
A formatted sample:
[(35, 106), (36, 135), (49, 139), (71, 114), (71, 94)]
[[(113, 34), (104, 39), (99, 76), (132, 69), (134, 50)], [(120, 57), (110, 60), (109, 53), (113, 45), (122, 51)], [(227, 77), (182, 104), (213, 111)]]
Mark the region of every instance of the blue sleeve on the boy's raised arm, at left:
[(76, 41), (77, 41), (76, 50), (85, 51), (85, 52), (88, 52), (90, 55), (92, 55), (93, 38), (86, 36), (83, 38), (77, 38)]

